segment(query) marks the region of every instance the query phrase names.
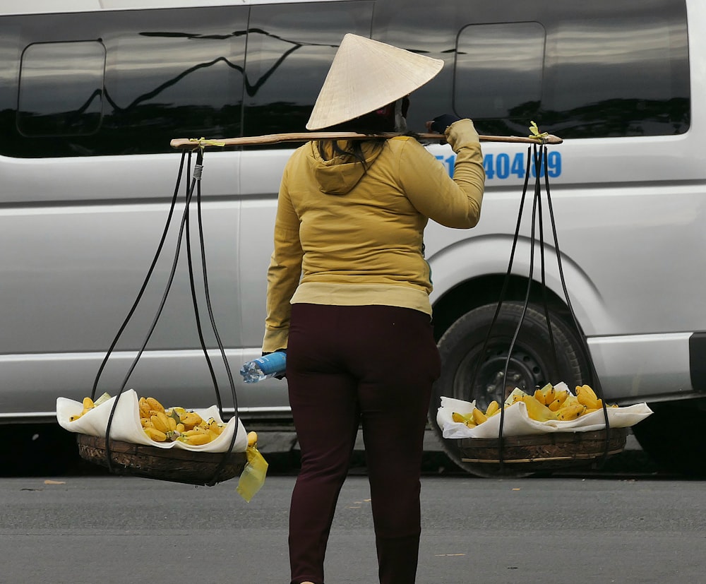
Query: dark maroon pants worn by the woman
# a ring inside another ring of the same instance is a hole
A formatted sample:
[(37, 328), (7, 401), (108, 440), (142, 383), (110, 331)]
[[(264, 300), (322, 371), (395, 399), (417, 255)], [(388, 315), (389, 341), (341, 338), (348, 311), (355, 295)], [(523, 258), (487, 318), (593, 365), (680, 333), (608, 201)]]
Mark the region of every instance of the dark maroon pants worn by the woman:
[(287, 383), (301, 448), (289, 515), (292, 584), (323, 584), (328, 535), (359, 426), (380, 582), (414, 583), (424, 428), (440, 368), (424, 313), (395, 306), (292, 306)]

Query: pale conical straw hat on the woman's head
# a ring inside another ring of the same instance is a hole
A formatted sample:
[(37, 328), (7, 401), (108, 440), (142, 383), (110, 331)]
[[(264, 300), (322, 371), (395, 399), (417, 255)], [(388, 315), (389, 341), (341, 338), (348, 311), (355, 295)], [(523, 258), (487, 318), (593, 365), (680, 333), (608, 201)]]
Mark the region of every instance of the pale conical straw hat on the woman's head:
[(320, 130), (373, 112), (431, 81), (443, 61), (358, 35), (343, 37), (306, 123)]

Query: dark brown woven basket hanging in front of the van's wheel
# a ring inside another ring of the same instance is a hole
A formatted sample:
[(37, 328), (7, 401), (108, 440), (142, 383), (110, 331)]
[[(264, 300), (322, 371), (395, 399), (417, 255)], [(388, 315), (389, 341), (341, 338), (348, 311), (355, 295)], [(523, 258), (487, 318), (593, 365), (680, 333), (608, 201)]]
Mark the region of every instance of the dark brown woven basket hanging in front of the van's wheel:
[(572, 466), (585, 466), (605, 455), (621, 453), (628, 437), (627, 428), (593, 432), (551, 432), (532, 436), (497, 438), (462, 438), (460, 453), (465, 463), (499, 466), (532, 472)]

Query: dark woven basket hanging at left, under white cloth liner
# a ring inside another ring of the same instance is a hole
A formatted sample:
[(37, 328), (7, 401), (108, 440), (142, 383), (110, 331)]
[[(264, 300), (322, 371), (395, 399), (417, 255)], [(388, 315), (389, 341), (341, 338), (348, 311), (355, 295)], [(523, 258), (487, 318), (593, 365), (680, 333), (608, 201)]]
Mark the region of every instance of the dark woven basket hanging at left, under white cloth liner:
[(87, 434), (76, 436), (81, 458), (108, 467), (116, 475), (213, 485), (239, 476), (247, 462), (244, 452), (187, 451), (111, 440), (109, 465), (104, 438)]

